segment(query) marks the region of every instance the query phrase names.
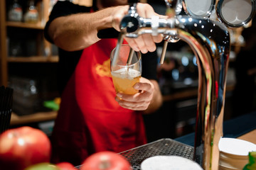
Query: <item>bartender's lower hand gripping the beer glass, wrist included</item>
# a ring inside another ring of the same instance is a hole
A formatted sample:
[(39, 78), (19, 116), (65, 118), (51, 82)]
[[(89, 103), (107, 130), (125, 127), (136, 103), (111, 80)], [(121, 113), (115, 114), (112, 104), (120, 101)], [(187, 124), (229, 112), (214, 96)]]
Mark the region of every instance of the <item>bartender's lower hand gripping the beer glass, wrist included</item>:
[(120, 106), (133, 111), (144, 111), (144, 113), (152, 113), (161, 106), (161, 92), (155, 80), (149, 81), (142, 77), (140, 82), (134, 85), (134, 89), (141, 92), (134, 95), (117, 94), (115, 99)]

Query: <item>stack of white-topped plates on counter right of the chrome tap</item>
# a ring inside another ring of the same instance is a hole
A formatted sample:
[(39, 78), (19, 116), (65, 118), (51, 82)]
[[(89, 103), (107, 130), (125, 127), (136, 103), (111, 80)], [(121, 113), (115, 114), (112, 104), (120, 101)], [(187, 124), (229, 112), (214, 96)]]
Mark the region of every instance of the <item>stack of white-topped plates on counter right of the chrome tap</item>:
[(256, 145), (245, 140), (223, 137), (219, 145), (219, 170), (243, 169), (249, 162), (249, 152), (256, 151)]

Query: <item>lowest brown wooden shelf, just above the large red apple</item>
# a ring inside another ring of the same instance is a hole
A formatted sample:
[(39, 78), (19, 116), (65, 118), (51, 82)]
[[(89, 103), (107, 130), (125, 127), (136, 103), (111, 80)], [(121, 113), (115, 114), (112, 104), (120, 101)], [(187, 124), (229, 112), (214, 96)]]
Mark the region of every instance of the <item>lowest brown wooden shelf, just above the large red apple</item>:
[(57, 111), (33, 113), (31, 115), (16, 115), (11, 113), (10, 125), (21, 125), (26, 123), (37, 123), (47, 120), (54, 120), (57, 117)]

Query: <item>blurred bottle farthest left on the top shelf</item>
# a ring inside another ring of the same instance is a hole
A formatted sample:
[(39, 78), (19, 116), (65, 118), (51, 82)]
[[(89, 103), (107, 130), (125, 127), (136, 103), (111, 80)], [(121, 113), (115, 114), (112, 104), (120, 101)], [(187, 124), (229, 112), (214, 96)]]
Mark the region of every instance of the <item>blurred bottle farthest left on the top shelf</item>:
[(18, 4), (18, 0), (14, 0), (9, 8), (8, 20), (9, 21), (22, 21), (23, 11), (21, 5)]

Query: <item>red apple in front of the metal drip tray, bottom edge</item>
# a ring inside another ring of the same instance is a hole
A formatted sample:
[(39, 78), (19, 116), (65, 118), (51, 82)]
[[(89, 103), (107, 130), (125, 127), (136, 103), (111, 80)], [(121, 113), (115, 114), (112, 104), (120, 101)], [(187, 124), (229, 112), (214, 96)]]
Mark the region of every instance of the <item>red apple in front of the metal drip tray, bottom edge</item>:
[(87, 157), (81, 170), (131, 170), (131, 165), (121, 154), (110, 151), (97, 152)]

